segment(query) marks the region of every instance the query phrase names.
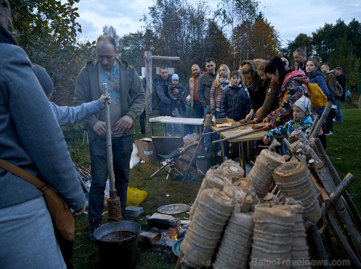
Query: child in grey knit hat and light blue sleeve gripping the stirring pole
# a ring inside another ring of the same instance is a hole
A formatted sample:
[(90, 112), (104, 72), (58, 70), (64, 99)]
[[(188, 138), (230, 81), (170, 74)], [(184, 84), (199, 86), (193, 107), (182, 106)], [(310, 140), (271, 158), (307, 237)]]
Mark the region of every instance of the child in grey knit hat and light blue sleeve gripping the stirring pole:
[[(54, 92), (54, 84), (49, 74), (46, 72), (45, 68), (42, 68), (38, 64), (33, 63), (31, 68), (35, 76), (38, 78), (46, 97), (50, 100)], [(103, 110), (105, 99), (107, 99), (108, 103), (110, 103), (110, 97), (102, 95), (96, 101), (84, 103), (77, 107), (58, 106), (53, 102), (50, 102), (50, 106), (53, 109), (60, 126), (71, 126), (80, 120)]]

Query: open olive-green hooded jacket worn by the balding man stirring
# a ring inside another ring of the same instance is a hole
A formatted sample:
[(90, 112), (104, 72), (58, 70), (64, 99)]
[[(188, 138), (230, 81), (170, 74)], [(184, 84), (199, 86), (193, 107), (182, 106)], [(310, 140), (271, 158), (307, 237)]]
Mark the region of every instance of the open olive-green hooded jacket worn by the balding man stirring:
[[(141, 80), (134, 67), (124, 60), (118, 60), (120, 73), (120, 109), (119, 118), (129, 115), (135, 120), (143, 112), (145, 107), (145, 93), (141, 85)], [(98, 100), (99, 91), (99, 70), (98, 61), (88, 61), (80, 70), (77, 77), (74, 93), (74, 105), (79, 106)], [(93, 130), (94, 124), (99, 121), (99, 113), (84, 119), (85, 126), (89, 131), (89, 137), (95, 139), (96, 133)], [(133, 127), (125, 135), (134, 134)]]

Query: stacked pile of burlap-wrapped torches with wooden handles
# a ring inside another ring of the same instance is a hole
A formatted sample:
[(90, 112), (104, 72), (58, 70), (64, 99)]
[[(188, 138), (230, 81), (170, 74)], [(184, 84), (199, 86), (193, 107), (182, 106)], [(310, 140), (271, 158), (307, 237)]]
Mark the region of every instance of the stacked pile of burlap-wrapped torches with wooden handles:
[(356, 178), (341, 180), (318, 138), (296, 130), (292, 141), (291, 161), (272, 151), (275, 140), (246, 178), (232, 161), (207, 172), (175, 269), (311, 268), (309, 253), (331, 268), (331, 233), (361, 268), (361, 221), (346, 191)]

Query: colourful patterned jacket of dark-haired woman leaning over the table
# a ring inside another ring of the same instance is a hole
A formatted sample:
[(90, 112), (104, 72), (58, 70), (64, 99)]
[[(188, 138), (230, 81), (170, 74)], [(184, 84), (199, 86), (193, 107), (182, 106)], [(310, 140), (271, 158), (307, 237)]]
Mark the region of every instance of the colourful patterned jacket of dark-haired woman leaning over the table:
[(308, 78), (302, 70), (292, 71), (286, 75), (278, 94), (279, 108), (267, 115), (270, 128), (283, 125), (293, 118), (293, 104), (303, 95), (309, 97), (307, 83)]

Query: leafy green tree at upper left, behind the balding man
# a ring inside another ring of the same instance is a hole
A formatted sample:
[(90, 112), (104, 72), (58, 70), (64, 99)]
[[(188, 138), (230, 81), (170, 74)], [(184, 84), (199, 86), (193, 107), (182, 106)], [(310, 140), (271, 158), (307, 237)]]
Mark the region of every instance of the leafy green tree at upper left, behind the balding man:
[(78, 42), (75, 2), (79, 0), (11, 1), (15, 38), (32, 62), (46, 68), (60, 104), (72, 103), (74, 78), (94, 45)]

